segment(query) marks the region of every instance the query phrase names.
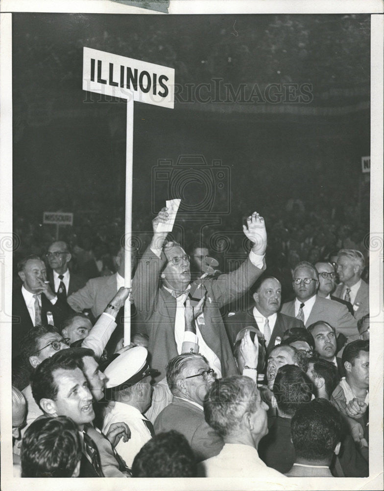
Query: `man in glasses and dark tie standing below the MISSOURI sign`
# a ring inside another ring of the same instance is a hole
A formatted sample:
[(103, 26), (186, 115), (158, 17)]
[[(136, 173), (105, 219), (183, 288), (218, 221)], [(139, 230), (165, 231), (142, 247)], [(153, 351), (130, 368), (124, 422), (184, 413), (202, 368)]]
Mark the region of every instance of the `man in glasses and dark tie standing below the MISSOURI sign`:
[(64, 300), (73, 292), (83, 288), (86, 283), (85, 277), (69, 270), (68, 264), (71, 258), (68, 244), (64, 241), (53, 242), (48, 247), (47, 260), (51, 268), (48, 273), (49, 284), (52, 291)]

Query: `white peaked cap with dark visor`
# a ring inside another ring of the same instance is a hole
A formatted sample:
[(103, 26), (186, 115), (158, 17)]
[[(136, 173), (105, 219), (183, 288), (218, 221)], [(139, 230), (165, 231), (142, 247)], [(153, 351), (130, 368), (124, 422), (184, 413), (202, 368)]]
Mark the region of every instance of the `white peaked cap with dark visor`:
[(113, 359), (104, 370), (108, 378), (106, 389), (121, 390), (155, 373), (155, 370), (149, 368), (147, 355), (145, 348), (135, 346)]

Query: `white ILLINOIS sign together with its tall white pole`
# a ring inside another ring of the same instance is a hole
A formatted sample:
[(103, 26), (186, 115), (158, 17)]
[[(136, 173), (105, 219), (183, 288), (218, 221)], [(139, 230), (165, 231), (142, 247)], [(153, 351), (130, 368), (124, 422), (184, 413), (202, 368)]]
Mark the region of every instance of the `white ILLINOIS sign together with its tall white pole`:
[[(124, 286), (131, 287), (133, 102), (164, 108), (174, 107), (173, 68), (114, 55), (92, 48), (83, 49), (83, 90), (120, 97), (127, 101), (125, 173), (125, 271)], [(124, 346), (131, 341), (131, 304), (124, 305)]]

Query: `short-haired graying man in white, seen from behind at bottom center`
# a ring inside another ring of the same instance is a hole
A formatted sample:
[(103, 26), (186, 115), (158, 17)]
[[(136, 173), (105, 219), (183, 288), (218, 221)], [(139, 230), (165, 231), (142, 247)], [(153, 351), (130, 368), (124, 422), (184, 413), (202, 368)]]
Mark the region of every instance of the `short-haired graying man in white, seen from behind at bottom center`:
[(221, 452), (199, 464), (206, 477), (257, 477), (280, 480), (280, 472), (267, 467), (257, 447), (268, 433), (267, 405), (249, 377), (216, 380), (204, 401), (208, 424), (224, 440)]

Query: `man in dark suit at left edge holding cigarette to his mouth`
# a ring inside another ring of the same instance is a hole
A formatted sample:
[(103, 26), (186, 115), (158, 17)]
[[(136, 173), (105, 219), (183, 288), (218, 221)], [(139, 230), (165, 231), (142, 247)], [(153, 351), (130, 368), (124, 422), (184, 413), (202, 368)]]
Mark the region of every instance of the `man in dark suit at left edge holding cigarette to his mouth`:
[[(18, 271), (23, 286), (12, 295), (12, 357), (19, 355), (19, 342), (31, 327), (38, 324), (59, 326), (73, 312), (65, 300), (52, 292), (46, 266), (39, 256), (22, 259)], [(52, 318), (47, 318), (47, 312)]]

